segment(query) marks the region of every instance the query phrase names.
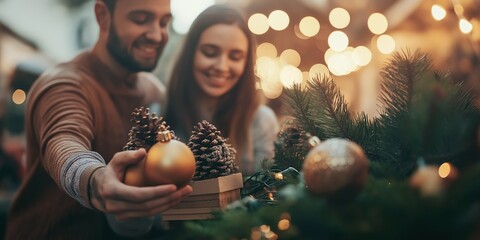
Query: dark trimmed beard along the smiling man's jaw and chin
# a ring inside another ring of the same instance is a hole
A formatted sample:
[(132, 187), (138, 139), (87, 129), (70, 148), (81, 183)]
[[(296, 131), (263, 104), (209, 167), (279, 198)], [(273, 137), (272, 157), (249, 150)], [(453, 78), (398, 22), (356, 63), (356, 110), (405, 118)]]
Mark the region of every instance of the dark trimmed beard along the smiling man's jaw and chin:
[[(160, 47), (159, 52), (161, 52), (163, 47), (164, 44), (162, 44)], [(122, 41), (118, 37), (117, 31), (115, 30), (113, 24), (110, 27), (110, 35), (107, 40), (107, 50), (120, 65), (131, 72), (150, 72), (157, 66), (158, 59), (148, 65), (136, 61), (135, 58), (128, 52), (127, 47), (122, 47)]]

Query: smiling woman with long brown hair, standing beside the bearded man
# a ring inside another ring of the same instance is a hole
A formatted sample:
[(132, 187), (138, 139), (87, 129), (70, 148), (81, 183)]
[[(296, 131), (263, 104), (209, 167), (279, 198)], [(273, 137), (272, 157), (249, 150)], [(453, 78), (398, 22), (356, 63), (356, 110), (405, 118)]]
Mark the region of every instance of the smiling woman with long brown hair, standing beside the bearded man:
[(226, 5), (203, 11), (190, 27), (168, 88), (167, 122), (188, 142), (198, 122), (214, 124), (237, 150), (242, 173), (273, 157), (279, 126), (260, 104), (254, 75), (255, 42), (244, 18)]

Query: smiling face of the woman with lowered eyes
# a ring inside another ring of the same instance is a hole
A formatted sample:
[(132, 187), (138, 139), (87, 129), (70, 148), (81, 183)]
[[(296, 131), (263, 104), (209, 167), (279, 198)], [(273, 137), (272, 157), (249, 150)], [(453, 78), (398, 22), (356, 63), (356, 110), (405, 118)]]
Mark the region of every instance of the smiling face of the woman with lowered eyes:
[(248, 39), (236, 25), (216, 24), (207, 28), (198, 42), (193, 74), (200, 89), (220, 97), (235, 86), (245, 69)]

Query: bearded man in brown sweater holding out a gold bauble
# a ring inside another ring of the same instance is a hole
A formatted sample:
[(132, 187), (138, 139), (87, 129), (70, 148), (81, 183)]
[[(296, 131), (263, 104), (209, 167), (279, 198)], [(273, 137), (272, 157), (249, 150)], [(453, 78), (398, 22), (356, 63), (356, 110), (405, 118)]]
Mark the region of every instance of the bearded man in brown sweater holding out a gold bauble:
[(170, 0), (97, 1), (95, 15), (94, 48), (47, 71), (30, 90), (28, 172), (7, 239), (118, 239), (105, 215), (114, 225), (149, 220), (192, 191), (122, 183), (125, 169), (146, 156), (144, 149), (121, 152), (131, 112), (164, 94), (143, 71), (156, 66), (167, 41)]

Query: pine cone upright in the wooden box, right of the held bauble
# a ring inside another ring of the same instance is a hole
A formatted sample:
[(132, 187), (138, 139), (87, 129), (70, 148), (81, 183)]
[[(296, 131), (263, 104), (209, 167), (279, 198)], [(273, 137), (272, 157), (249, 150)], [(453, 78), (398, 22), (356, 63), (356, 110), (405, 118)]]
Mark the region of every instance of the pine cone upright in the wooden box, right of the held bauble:
[(194, 127), (188, 147), (197, 165), (193, 180), (216, 178), (239, 171), (235, 164), (235, 149), (208, 121), (204, 120)]

